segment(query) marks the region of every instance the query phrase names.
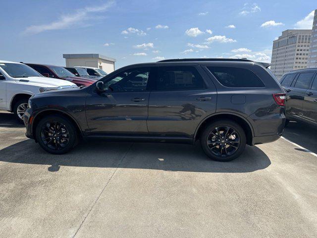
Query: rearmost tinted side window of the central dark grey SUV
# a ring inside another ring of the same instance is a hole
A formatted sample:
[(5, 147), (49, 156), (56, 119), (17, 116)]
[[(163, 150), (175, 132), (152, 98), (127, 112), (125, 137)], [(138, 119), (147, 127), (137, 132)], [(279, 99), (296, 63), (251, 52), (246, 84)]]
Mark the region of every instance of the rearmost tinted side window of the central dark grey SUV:
[(261, 79), (248, 69), (233, 67), (208, 67), (208, 69), (226, 87), (264, 87)]

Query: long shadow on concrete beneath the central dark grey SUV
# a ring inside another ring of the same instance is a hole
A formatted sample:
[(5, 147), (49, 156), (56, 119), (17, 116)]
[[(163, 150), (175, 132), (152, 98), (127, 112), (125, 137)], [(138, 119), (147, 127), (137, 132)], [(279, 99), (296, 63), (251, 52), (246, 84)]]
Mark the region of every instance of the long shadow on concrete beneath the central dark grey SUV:
[(248, 173), (262, 170), (271, 162), (256, 146), (231, 162), (209, 159), (200, 144), (160, 144), (89, 141), (79, 144), (64, 155), (43, 151), (33, 140), (25, 140), (0, 150), (0, 161), (21, 164), (51, 165), (56, 172), (60, 166), (129, 168), (204, 173)]

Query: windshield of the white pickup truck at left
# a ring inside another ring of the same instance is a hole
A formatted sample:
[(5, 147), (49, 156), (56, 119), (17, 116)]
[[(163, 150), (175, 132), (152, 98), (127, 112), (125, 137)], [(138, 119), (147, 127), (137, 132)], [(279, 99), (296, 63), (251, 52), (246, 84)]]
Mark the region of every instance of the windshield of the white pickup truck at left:
[(0, 67), (13, 78), (41, 77), (42, 75), (22, 63), (0, 63)]

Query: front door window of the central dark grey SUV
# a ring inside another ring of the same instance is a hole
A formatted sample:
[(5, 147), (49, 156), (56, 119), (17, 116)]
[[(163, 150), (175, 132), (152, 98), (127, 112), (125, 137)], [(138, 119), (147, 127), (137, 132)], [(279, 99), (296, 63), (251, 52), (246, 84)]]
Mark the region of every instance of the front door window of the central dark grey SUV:
[(113, 92), (146, 91), (150, 68), (133, 68), (123, 71), (105, 81), (105, 89)]

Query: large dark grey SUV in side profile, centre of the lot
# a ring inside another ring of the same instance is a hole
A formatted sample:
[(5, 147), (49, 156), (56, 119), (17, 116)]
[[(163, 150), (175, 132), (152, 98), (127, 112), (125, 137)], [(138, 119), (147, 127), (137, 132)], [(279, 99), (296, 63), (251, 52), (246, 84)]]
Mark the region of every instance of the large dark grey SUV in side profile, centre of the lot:
[(285, 93), (268, 66), (242, 59), (129, 65), (89, 87), (33, 96), (26, 136), (53, 154), (69, 151), (80, 137), (200, 140), (211, 159), (229, 161), (246, 144), (283, 132)]

